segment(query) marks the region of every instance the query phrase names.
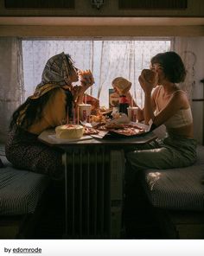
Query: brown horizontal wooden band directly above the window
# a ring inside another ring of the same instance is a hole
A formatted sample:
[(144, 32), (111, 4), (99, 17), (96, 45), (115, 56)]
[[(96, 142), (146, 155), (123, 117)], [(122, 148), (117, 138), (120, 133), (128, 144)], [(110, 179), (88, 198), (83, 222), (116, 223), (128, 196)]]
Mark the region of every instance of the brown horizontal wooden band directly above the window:
[(204, 26), (0, 26), (1, 36), (204, 36)]

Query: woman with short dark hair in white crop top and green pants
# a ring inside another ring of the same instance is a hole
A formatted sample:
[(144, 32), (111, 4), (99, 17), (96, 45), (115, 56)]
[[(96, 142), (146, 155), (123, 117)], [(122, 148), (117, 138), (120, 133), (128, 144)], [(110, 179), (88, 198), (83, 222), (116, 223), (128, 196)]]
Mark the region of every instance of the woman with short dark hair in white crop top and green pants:
[(156, 73), (156, 88), (143, 74), (138, 79), (144, 93), (144, 122), (153, 122), (152, 129), (165, 125), (167, 135), (128, 152), (128, 163), (136, 170), (189, 166), (196, 158), (196, 142), (188, 96), (176, 84), (186, 76), (182, 59), (175, 52), (156, 54), (150, 69)]

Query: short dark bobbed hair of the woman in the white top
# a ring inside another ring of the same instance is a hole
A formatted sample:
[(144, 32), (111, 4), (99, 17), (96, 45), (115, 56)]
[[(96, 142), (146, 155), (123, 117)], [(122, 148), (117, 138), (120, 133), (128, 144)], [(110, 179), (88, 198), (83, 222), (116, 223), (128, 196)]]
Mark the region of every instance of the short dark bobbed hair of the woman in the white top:
[(180, 83), (185, 80), (186, 69), (179, 54), (175, 52), (156, 54), (151, 59), (151, 65), (156, 63), (163, 67), (163, 73), (170, 82)]

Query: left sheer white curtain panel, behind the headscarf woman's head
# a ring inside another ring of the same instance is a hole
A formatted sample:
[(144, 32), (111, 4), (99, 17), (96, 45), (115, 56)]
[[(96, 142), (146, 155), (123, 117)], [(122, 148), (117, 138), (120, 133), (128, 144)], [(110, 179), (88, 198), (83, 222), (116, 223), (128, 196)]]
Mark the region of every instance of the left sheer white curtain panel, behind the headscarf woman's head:
[(48, 59), (61, 52), (70, 54), (76, 67), (92, 68), (92, 41), (22, 41), (25, 99), (34, 93), (35, 86), (41, 82), (41, 74)]

